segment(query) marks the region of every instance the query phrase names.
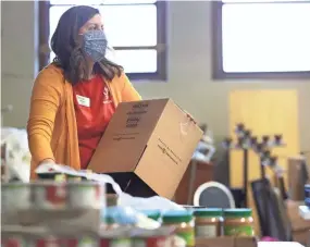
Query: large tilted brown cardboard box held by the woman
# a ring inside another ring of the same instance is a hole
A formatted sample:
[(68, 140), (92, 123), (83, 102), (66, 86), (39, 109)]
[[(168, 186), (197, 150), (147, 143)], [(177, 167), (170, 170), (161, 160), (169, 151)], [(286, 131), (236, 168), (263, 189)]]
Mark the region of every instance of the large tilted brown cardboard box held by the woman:
[(171, 99), (123, 102), (88, 169), (111, 175), (131, 195), (171, 199), (201, 136)]

